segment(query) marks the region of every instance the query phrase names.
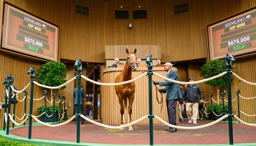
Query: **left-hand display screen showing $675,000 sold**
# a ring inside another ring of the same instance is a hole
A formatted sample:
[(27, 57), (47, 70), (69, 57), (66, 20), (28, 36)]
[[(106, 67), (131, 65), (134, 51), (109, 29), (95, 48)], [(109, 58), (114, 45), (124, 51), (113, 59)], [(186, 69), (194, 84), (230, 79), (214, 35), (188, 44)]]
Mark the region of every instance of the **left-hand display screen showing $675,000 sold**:
[(1, 49), (58, 61), (59, 27), (4, 3)]

